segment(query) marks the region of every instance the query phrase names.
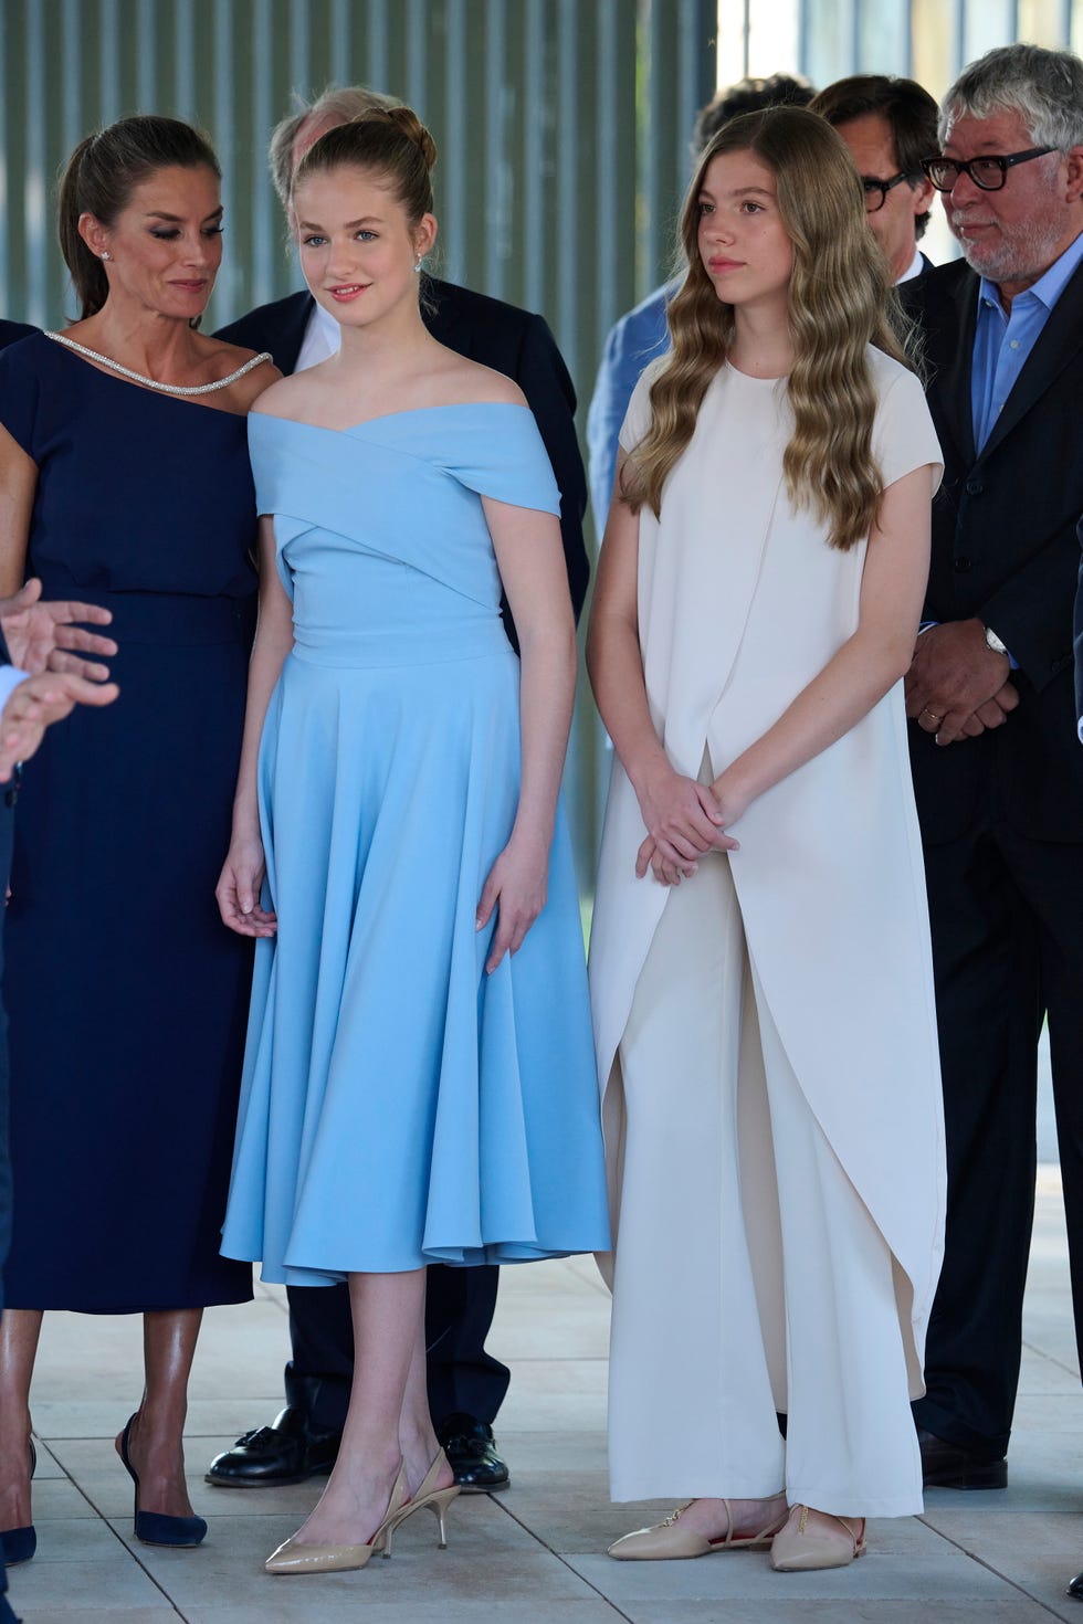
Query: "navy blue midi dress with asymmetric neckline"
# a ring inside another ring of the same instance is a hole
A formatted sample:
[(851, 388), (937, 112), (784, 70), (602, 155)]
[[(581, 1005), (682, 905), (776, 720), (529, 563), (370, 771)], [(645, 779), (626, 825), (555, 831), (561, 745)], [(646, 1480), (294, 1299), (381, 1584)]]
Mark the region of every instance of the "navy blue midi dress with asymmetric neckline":
[(252, 955), (214, 885), (255, 619), (245, 419), (34, 335), (0, 356), (0, 422), (39, 468), (29, 572), (112, 609), (120, 648), (120, 698), (50, 728), (19, 793), (6, 1304), (242, 1302), (218, 1247)]

